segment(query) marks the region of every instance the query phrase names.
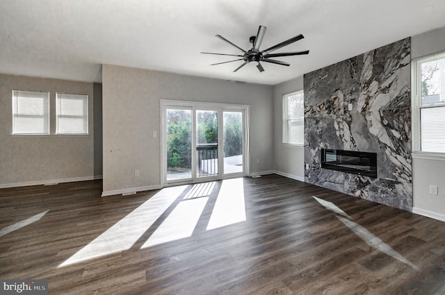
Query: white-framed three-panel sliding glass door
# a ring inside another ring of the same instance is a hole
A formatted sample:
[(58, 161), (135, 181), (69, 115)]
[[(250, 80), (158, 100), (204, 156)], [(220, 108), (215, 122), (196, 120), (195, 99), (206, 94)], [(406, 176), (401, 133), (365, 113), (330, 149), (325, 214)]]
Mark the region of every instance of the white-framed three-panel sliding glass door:
[(248, 106), (161, 101), (164, 183), (248, 174)]

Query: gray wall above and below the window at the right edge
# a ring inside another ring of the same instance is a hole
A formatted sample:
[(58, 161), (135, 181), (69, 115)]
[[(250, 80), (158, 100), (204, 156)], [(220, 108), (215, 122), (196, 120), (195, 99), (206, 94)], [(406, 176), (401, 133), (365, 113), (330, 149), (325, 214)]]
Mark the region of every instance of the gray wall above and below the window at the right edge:
[[(411, 38), (412, 58), (445, 51), (445, 28)], [(413, 156), (413, 212), (445, 221), (445, 157)], [(438, 196), (430, 194), (430, 185), (437, 185)]]

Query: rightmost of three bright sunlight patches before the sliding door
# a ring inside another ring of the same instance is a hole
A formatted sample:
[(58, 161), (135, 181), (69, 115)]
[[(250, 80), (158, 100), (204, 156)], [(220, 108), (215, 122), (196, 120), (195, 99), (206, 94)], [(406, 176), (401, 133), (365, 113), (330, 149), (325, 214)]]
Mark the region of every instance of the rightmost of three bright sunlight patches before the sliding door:
[(207, 230), (245, 221), (243, 178), (223, 180)]

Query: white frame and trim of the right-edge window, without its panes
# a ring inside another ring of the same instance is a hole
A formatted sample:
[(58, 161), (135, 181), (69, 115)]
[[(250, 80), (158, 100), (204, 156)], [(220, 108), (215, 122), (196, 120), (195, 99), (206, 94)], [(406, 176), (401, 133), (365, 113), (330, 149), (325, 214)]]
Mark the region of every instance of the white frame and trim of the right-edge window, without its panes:
[[(445, 157), (444, 152), (421, 151), (421, 109), (423, 108), (445, 108), (445, 101), (437, 103), (434, 106), (422, 105), (422, 81), (421, 81), (421, 65), (425, 62), (433, 60), (445, 59), (445, 51), (429, 54), (428, 56), (421, 56), (411, 61), (411, 133), (412, 133), (412, 154), (426, 157)], [(414, 157), (418, 158), (418, 157)]]

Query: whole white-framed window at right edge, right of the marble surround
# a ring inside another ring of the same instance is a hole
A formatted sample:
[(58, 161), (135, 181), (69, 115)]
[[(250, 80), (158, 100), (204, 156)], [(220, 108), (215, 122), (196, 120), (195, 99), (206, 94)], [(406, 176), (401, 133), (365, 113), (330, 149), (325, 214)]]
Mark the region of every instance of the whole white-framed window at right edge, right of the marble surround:
[(445, 153), (445, 53), (414, 60), (414, 151)]

